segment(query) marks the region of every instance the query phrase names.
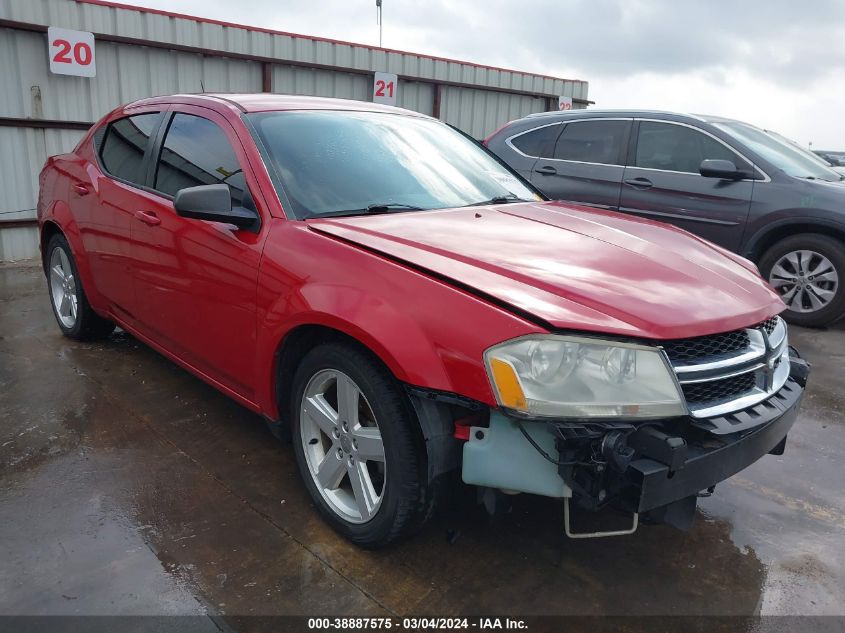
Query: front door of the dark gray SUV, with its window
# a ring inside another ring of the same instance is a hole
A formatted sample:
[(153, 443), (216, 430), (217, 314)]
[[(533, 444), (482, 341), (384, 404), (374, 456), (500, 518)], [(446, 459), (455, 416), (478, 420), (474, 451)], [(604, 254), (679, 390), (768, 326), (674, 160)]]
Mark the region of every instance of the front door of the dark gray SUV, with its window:
[(670, 222), (730, 250), (742, 240), (754, 181), (705, 178), (701, 161), (728, 160), (754, 174), (726, 143), (686, 123), (638, 121), (620, 211)]

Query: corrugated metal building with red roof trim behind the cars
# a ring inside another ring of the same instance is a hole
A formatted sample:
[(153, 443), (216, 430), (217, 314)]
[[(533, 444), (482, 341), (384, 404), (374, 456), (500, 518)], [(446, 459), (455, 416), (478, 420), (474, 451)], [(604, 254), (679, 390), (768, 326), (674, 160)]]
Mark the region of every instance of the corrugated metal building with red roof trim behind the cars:
[[(95, 78), (50, 73), (46, 30), (91, 31)], [(587, 83), (101, 0), (0, 0), (0, 261), (37, 255), (38, 172), (114, 107), (179, 92), (278, 92), (369, 101), (373, 73), (397, 105), (481, 138), (514, 118), (586, 107)]]

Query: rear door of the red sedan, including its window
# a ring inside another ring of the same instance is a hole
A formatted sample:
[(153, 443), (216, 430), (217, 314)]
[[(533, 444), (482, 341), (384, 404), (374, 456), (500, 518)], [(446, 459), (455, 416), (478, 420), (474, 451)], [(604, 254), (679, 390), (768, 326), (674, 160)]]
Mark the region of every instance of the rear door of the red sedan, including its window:
[(68, 204), (79, 227), (97, 291), (109, 309), (132, 321), (134, 287), (129, 229), (144, 207), (144, 169), (162, 118), (160, 111), (141, 111), (115, 119), (97, 131), (94, 150), (99, 166), (80, 165), (70, 175)]

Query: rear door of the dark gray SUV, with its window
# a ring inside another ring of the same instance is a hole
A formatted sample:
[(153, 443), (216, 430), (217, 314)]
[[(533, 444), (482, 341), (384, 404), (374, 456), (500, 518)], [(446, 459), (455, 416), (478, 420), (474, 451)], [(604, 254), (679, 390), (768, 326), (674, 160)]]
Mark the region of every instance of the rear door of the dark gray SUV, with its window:
[(531, 183), (553, 200), (617, 209), (630, 127), (630, 119), (565, 123), (534, 163)]

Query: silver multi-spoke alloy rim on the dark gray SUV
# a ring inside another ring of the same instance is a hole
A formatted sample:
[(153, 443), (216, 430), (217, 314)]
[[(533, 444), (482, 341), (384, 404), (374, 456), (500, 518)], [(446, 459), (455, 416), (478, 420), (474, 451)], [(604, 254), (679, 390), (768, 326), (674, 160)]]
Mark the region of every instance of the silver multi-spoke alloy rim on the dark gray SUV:
[(769, 283), (794, 312), (825, 308), (839, 289), (839, 273), (831, 261), (816, 251), (791, 251), (772, 266)]

